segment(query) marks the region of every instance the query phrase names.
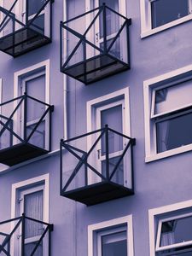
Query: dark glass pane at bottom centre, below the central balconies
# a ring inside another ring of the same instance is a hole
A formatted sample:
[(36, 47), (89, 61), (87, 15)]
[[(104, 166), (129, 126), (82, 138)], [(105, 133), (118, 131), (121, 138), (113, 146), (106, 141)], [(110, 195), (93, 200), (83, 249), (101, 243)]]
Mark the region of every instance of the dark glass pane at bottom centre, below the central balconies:
[(102, 236), (102, 256), (127, 256), (126, 231)]

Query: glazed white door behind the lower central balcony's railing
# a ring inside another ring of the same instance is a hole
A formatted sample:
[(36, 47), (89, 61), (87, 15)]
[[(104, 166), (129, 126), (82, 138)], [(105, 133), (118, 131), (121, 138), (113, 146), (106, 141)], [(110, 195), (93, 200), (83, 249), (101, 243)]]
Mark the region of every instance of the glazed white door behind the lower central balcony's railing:
[[(103, 128), (105, 125), (108, 125), (109, 128), (112, 128), (115, 131), (124, 133), (124, 101), (113, 102), (108, 105), (96, 108), (96, 129)], [(114, 166), (116, 166), (119, 156), (123, 153), (125, 148), (125, 143), (123, 137), (113, 133), (112, 131), (108, 132), (108, 168), (109, 175), (113, 172)], [(97, 156), (96, 156), (96, 166), (97, 171), (101, 172), (104, 177), (106, 177), (106, 138), (102, 137), (102, 140), (97, 144)], [(112, 181), (115, 181), (119, 184), (124, 184), (125, 177), (124, 172), (124, 160), (120, 163), (117, 172), (114, 174)]]

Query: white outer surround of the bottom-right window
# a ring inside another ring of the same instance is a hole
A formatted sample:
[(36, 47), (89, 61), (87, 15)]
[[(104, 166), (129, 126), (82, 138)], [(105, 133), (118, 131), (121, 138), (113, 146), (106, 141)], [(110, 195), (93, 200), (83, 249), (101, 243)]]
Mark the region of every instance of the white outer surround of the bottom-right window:
[[(155, 230), (155, 228), (154, 228), (154, 218), (155, 218), (155, 216), (159, 215), (159, 214), (163, 214), (163, 213), (184, 210), (185, 208), (188, 208), (188, 207), (192, 207), (192, 200), (182, 201), (182, 202), (178, 202), (176, 204), (172, 204), (172, 205), (168, 205), (168, 206), (164, 206), (164, 207), (158, 207), (158, 208), (148, 210), (150, 256), (155, 256), (155, 231), (154, 231)], [(180, 216), (181, 216), (181, 214), (180, 214)], [(179, 216), (179, 218), (180, 218), (180, 216)], [(176, 219), (177, 218), (177, 213), (176, 213), (176, 217), (172, 217), (172, 218)], [(165, 220), (165, 219), (162, 218), (162, 221), (163, 220)], [(190, 244), (191, 244), (191, 241), (190, 241)], [(177, 244), (177, 246), (175, 246), (175, 245), (174, 245), (174, 247), (178, 247), (178, 244)]]

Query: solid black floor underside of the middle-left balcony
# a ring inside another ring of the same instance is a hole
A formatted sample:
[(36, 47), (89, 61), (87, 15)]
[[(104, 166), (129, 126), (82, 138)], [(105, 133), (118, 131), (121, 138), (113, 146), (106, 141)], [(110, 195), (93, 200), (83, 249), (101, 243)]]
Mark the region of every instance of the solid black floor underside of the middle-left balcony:
[(30, 143), (20, 143), (0, 150), (0, 162), (7, 166), (14, 166), (47, 153), (49, 151), (38, 148)]

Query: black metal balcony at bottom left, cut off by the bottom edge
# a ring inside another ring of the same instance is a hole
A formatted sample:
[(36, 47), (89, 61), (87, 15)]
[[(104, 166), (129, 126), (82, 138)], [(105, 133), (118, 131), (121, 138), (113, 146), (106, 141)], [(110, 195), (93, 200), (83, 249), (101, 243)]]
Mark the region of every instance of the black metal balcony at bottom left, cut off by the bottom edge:
[(28, 218), (25, 214), (0, 222), (0, 254), (50, 256), (51, 231), (53, 224)]

